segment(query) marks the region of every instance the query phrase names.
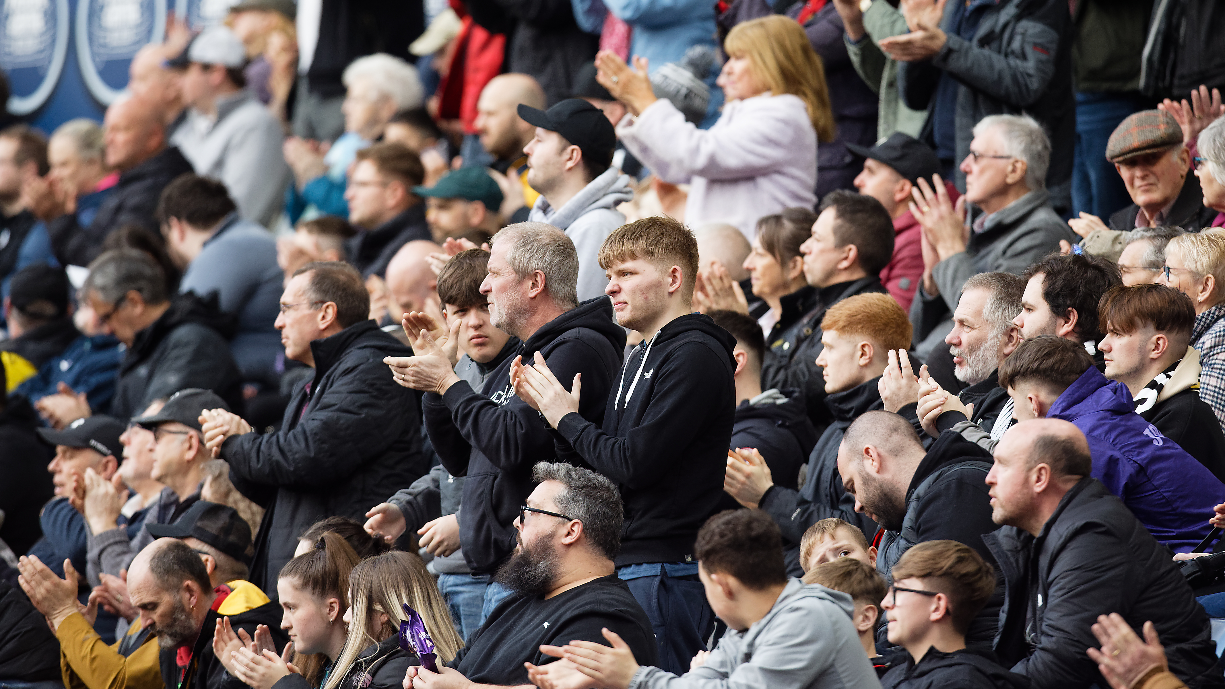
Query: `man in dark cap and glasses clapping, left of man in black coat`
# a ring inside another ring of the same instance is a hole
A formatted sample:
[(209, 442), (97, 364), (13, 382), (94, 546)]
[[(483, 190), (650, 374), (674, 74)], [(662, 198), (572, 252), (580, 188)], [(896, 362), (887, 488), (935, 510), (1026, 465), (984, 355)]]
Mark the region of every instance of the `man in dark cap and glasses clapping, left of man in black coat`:
[(205, 447), (200, 415), (206, 409), (229, 409), (212, 390), (187, 388), (165, 400), (159, 411), (134, 420), (153, 432), (149, 450), (153, 469), (149, 477), (165, 485), (157, 502), (145, 510), (142, 524), (120, 523), (126, 491), (105, 481), (87, 480), (85, 516), (89, 526), (89, 581), (98, 584), (102, 574), (119, 576), (132, 558), (159, 536), (157, 525), (173, 524), (200, 501), (203, 464), (212, 459)]

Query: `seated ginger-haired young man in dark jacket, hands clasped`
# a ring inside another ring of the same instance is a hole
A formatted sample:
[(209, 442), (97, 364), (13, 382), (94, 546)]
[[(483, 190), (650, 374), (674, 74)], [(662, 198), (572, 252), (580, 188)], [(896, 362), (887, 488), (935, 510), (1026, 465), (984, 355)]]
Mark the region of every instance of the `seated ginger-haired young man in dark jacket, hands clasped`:
[(774, 485), (757, 453), (744, 453), (747, 463), (728, 461), (725, 491), (746, 507), (768, 512), (783, 530), (788, 572), (802, 574), (800, 541), (809, 526), (837, 516), (854, 524), (872, 541), (876, 523), (855, 512), (855, 497), (838, 475), (838, 444), (851, 421), (881, 409), (881, 373), (888, 350), (910, 345), (910, 321), (888, 294), (860, 294), (829, 307), (821, 321), (821, 355), (826, 406), (834, 421), (821, 434), (809, 456), (809, 476), (799, 491)]

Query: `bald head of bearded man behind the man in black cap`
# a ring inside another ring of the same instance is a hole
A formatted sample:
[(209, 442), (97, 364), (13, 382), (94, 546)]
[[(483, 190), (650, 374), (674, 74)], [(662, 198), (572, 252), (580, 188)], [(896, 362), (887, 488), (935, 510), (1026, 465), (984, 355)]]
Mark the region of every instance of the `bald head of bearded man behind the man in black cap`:
[(480, 133), (480, 144), (500, 160), (523, 155), (535, 133), (535, 127), (519, 117), (519, 104), (543, 110), (548, 104), (540, 83), (528, 75), (499, 75), (485, 84), (477, 100), (473, 126)]

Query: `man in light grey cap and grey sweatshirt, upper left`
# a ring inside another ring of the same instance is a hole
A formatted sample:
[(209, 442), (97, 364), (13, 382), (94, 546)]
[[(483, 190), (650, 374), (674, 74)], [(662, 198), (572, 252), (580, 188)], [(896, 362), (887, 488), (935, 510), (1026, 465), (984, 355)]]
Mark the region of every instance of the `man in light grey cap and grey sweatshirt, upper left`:
[(189, 106), (170, 143), (196, 174), (225, 185), (243, 218), (270, 225), (289, 181), (281, 151), (284, 133), (272, 113), (244, 89), (245, 65), (246, 48), (223, 26), (205, 29), (170, 60), (183, 70), (183, 102)]

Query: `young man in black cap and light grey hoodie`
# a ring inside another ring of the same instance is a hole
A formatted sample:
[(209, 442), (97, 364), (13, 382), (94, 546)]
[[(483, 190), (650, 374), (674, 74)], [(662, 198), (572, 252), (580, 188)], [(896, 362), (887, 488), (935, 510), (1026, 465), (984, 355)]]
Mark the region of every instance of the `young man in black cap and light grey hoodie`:
[(528, 184), (540, 192), (528, 220), (566, 233), (578, 250), (578, 300), (604, 296), (608, 278), (598, 255), (604, 237), (625, 224), (617, 206), (633, 198), (630, 176), (611, 166), (616, 131), (598, 108), (568, 98), (538, 110), (519, 105), (519, 117), (535, 127), (523, 147)]

